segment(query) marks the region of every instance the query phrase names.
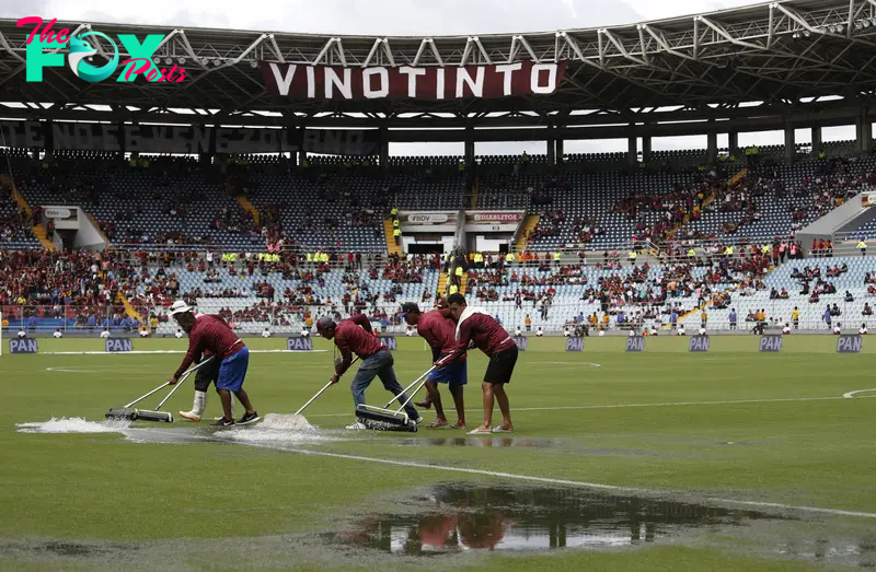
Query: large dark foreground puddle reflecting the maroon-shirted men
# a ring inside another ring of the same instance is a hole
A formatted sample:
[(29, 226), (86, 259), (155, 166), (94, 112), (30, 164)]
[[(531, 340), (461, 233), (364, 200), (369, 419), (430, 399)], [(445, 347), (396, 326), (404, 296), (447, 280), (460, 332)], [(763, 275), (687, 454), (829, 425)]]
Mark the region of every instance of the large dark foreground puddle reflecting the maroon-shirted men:
[[(430, 555), (466, 550), (549, 550), (610, 548), (691, 540), (700, 533), (741, 530), (796, 521), (754, 511), (735, 511), (675, 501), (621, 498), (566, 489), (473, 488), (430, 490), (418, 515), (377, 515), (357, 521), (331, 538), (383, 552)], [(776, 541), (772, 553), (832, 559), (837, 551), (857, 565), (876, 560), (873, 542), (809, 538), (805, 546)], [(843, 548), (840, 548), (842, 546)], [(835, 558), (833, 558), (835, 560)]]

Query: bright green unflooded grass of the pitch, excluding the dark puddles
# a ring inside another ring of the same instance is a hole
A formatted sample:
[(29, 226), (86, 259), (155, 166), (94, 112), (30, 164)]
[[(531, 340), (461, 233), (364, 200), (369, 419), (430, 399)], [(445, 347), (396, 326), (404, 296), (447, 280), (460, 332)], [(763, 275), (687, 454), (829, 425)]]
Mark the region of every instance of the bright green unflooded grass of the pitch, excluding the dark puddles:
[[(16, 423), (51, 417), (100, 421), (107, 408), (160, 384), (182, 355), (4, 354), (0, 383), (8, 416), (0, 432), (0, 503), (4, 507), (0, 538), (143, 542), (319, 534), (336, 529), (345, 518), (376, 504), (384, 510), (387, 505), (403, 507), (411, 502), (410, 491), (430, 483), (516, 482), (440, 467), (635, 487), (680, 499), (753, 500), (876, 513), (876, 399), (866, 397), (876, 392), (841, 398), (848, 392), (876, 388), (876, 347), (868, 341), (864, 353), (840, 355), (835, 338), (820, 336), (789, 337), (779, 354), (758, 353), (754, 337), (715, 337), (704, 354), (688, 353), (687, 340), (670, 337), (647, 339), (644, 353), (625, 353), (621, 338), (587, 338), (580, 353), (563, 351), (564, 340), (531, 339), (508, 387), (515, 441), (457, 444), (447, 439), (462, 437), (460, 431), (420, 430), (416, 434), (336, 434), (345, 439), (298, 447), (435, 468), (239, 444), (131, 443), (115, 433), (18, 433)], [(430, 352), (418, 339), (399, 342), (396, 372), (404, 384), (428, 367)], [(324, 340), (314, 345), (331, 348)], [(280, 339), (250, 342), (252, 349), (284, 346)], [(42, 351), (102, 349), (97, 339), (41, 340)], [(135, 349), (182, 350), (185, 342), (135, 340)], [(332, 354), (254, 353), (250, 363), (246, 388), (256, 409), (263, 415), (292, 412), (327, 381)], [(481, 418), (479, 382), (485, 365), (480, 353), (470, 358), (470, 425)], [(353, 420), (353, 400), (345, 384), (350, 377), (307, 410), (312, 423), (336, 431)], [(379, 382), (368, 393), (369, 402), (385, 401), (387, 396)], [(159, 400), (145, 405), (153, 407)], [(187, 385), (166, 409), (188, 409), (191, 402), (192, 386)], [(218, 412), (218, 399), (211, 395), (208, 417)], [(175, 423), (173, 429), (180, 427)], [(412, 439), (420, 440), (419, 446), (411, 445)], [(853, 526), (858, 524), (866, 529), (876, 526), (876, 521), (852, 520)], [(771, 560), (762, 557), (742, 548), (727, 553), (712, 548), (655, 547), (521, 558), (480, 555), (452, 564), (649, 571), (810, 567), (775, 560), (780, 555)], [(402, 565), (395, 559), (385, 556), (370, 565)], [(228, 560), (229, 569), (238, 568), (234, 562)], [(284, 562), (281, 568), (333, 568), (331, 558)], [(417, 562), (405, 561), (404, 567), (426, 565)], [(429, 562), (427, 568), (442, 567), (440, 558)], [(0, 556), (3, 568), (19, 564), (27, 568), (33, 562), (21, 556)], [(81, 564), (69, 557), (38, 561), (36, 568), (78, 569)], [(188, 564), (221, 568), (221, 562)], [(336, 564), (351, 568), (347, 560)], [(101, 562), (87, 562), (84, 568), (92, 565), (102, 568)]]

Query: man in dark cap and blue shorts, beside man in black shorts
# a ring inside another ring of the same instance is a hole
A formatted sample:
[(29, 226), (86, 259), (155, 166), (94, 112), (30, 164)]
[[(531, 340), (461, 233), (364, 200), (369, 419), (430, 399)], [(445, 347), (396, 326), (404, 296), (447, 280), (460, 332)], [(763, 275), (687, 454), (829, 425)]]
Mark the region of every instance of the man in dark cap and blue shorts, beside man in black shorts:
[[(445, 317), (440, 311), (433, 310), (425, 314), (419, 311), (414, 302), (402, 304), (402, 312), (399, 314), (408, 326), (416, 326), (417, 334), (426, 340), (431, 348), (431, 361), (437, 362), (447, 357), (457, 347), (456, 324)], [(450, 429), (465, 429), (465, 407), (462, 396), (462, 386), (468, 383), (468, 372), (465, 369), (465, 353), (446, 366), (435, 369), (429, 374), (426, 382), (426, 390), (429, 393), (429, 400), (435, 404), (436, 419), (427, 429), (448, 427), (443, 407), (441, 407), (441, 394), (438, 392), (438, 384), (446, 383), (453, 396), (453, 405), (457, 406), (458, 421)]]

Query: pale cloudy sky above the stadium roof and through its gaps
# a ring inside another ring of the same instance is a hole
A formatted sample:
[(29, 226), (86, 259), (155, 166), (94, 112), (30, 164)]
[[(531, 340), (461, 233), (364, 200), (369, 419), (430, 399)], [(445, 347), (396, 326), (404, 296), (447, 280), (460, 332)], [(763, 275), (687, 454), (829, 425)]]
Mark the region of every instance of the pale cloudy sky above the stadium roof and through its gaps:
[[(38, 15), (46, 20), (231, 27), (272, 32), (359, 35), (470, 35), (601, 27), (706, 13), (750, 5), (751, 0), (0, 0), (0, 17)], [(143, 10), (148, 7), (149, 10)], [(839, 131), (837, 130), (839, 129)], [(827, 131), (827, 130), (826, 130)], [(854, 128), (834, 128), (823, 139), (854, 139)], [(798, 142), (809, 141), (799, 130)], [(722, 142), (723, 141), (723, 142)], [(739, 144), (781, 144), (784, 136), (740, 133)], [(660, 138), (653, 149), (702, 149), (705, 136)], [(726, 137), (718, 138), (718, 147)], [(480, 143), (477, 154), (527, 150), (544, 143)], [(625, 151), (625, 140), (567, 141), (566, 153)], [(462, 154), (462, 143), (394, 144), (392, 154)]]

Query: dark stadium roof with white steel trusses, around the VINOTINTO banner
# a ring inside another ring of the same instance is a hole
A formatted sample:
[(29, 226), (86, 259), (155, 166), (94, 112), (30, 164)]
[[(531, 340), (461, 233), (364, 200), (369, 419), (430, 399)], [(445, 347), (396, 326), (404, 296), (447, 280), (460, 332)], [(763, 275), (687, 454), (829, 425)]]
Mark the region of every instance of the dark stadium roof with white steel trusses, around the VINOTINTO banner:
[[(563, 125), (575, 110), (597, 109), (613, 115), (621, 124), (633, 116), (647, 120), (644, 114), (666, 106), (681, 106), (679, 114), (714, 108), (733, 112), (742, 102), (794, 105), (826, 96), (867, 101), (876, 91), (876, 0), (788, 0), (598, 30), (480, 37), (55, 25), (55, 30), (61, 27), (76, 33), (93, 30), (111, 37), (165, 35), (154, 57), (161, 67), (165, 61), (184, 66), (189, 77), (181, 83), (88, 83), (65, 68), (45, 68), (43, 82), (26, 82), (25, 40), (32, 27), (0, 20), (0, 101), (28, 104), (26, 109), (7, 115), (233, 125), (368, 121), (388, 127), (449, 127)], [(99, 44), (99, 55), (106, 48), (108, 44)], [(127, 54), (123, 47), (119, 50), (124, 60)], [(567, 62), (565, 77), (553, 94), (495, 100), (301, 101), (268, 95), (258, 68), (260, 61), (361, 68), (526, 60)], [(112, 108), (99, 112), (85, 105)]]

